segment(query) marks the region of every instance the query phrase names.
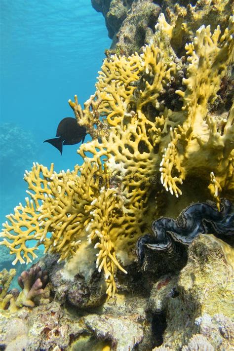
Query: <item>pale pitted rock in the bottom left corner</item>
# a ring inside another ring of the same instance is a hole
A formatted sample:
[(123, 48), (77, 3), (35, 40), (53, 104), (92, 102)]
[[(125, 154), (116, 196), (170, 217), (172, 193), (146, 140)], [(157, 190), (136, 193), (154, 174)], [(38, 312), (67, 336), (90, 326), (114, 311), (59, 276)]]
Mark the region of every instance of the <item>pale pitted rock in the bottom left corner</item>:
[(0, 345), (6, 350), (62, 350), (83, 330), (58, 303), (0, 314)]

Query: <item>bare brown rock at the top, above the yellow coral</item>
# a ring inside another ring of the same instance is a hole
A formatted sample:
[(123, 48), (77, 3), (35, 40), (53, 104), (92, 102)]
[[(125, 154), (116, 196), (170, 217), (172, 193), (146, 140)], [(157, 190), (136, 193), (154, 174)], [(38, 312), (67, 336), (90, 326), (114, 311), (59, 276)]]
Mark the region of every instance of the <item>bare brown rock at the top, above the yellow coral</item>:
[(149, 44), (161, 8), (152, 0), (92, 0), (93, 7), (103, 13), (113, 43), (107, 53), (131, 55)]

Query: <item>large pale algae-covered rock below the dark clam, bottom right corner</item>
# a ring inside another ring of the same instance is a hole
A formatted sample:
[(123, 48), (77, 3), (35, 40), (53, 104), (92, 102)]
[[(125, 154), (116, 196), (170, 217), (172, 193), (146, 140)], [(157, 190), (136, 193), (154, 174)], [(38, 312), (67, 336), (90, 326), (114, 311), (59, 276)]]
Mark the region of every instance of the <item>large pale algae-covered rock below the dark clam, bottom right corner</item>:
[(200, 235), (188, 255), (178, 275), (161, 277), (151, 291), (148, 310), (166, 315), (162, 346), (176, 351), (188, 345), (183, 350), (192, 350), (190, 345), (205, 339), (190, 339), (201, 334), (214, 350), (231, 350), (234, 249), (212, 236)]

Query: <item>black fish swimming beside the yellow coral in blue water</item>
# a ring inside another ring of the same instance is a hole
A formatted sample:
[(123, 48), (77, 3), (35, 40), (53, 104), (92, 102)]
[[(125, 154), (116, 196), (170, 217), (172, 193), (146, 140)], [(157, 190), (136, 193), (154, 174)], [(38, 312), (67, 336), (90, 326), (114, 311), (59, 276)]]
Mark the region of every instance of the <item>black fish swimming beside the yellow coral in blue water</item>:
[(83, 143), (85, 135), (85, 127), (80, 126), (76, 118), (66, 117), (63, 118), (58, 125), (56, 133), (57, 138), (47, 139), (44, 143), (50, 143), (57, 148), (62, 155), (63, 145), (78, 144), (80, 140), (82, 140)]

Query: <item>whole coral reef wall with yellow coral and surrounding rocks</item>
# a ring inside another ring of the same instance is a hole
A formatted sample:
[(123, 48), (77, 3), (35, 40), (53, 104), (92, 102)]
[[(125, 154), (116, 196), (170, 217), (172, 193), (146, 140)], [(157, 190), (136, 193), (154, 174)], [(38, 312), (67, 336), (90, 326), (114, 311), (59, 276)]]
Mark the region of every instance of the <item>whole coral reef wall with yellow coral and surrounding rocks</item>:
[(21, 293), (0, 273), (0, 349), (234, 348), (234, 249), (212, 235), (233, 230), (232, 3), (175, 2), (92, 0), (113, 48), (84, 108), (69, 100), (92, 140), (74, 170), (25, 172), (0, 245), (45, 255)]

